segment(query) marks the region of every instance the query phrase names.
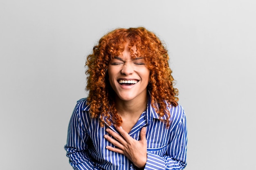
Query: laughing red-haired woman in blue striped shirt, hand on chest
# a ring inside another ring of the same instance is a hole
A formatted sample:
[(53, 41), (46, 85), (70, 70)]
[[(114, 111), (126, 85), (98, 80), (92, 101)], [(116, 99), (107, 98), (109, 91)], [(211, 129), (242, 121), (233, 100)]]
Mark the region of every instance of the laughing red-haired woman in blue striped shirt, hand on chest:
[(89, 91), (73, 111), (65, 150), (75, 170), (181, 170), (186, 117), (167, 50), (143, 27), (104, 35), (88, 55)]

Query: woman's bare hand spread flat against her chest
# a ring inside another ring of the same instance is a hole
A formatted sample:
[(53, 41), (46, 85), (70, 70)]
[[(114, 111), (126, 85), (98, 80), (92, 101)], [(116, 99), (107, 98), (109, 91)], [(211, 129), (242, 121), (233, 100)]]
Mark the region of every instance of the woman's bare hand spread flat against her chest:
[(141, 129), (139, 141), (130, 137), (130, 135), (121, 127), (115, 127), (121, 135), (108, 128), (106, 131), (115, 139), (108, 135), (104, 135), (104, 138), (118, 148), (107, 146), (106, 149), (123, 154), (128, 157), (135, 166), (138, 168), (144, 168), (147, 161), (146, 127)]

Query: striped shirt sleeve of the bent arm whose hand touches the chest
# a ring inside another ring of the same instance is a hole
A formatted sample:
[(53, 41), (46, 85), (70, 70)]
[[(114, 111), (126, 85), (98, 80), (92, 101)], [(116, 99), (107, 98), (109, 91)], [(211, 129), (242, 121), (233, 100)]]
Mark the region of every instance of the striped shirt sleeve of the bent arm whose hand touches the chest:
[[(179, 106), (178, 106), (179, 107)], [(183, 170), (186, 167), (187, 129), (183, 108), (177, 125), (172, 129), (173, 137), (163, 157), (147, 151), (148, 159), (144, 170)]]

